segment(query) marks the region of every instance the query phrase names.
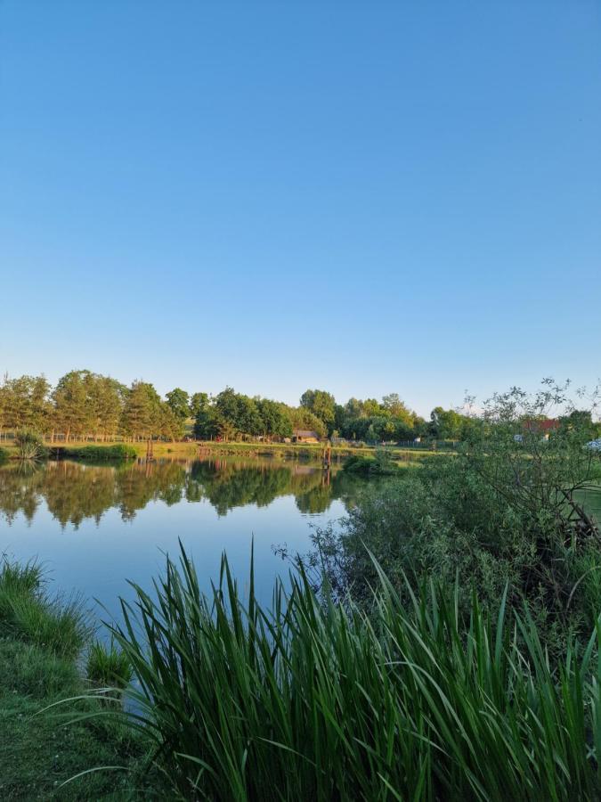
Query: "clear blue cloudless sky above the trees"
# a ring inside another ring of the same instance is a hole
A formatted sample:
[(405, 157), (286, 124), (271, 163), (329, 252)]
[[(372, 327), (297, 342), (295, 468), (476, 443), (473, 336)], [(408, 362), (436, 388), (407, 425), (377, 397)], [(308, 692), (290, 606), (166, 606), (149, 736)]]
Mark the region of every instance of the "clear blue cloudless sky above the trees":
[(601, 5), (0, 0), (0, 371), (601, 373)]

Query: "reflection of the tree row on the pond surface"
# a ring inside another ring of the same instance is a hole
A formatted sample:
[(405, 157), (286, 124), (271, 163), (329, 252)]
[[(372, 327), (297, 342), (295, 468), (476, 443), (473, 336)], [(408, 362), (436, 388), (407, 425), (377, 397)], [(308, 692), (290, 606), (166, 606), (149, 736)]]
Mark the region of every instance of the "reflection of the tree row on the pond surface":
[(100, 523), (102, 515), (118, 509), (123, 520), (153, 501), (168, 506), (207, 501), (218, 515), (234, 507), (264, 507), (277, 497), (293, 495), (298, 511), (318, 514), (335, 499), (353, 504), (363, 481), (337, 467), (268, 459), (205, 459), (137, 462), (95, 466), (78, 462), (46, 462), (34, 467), (9, 463), (0, 468), (0, 515), (12, 523), (22, 513), (31, 523), (41, 503), (64, 528), (84, 520)]

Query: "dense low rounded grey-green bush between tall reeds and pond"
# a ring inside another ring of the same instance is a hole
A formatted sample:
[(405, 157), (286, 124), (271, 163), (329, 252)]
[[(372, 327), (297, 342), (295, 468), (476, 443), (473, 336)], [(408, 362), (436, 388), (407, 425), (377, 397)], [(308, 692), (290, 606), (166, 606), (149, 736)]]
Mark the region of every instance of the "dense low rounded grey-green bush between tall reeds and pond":
[(368, 488), (336, 528), (317, 530), (305, 563), (325, 566), (339, 595), (366, 603), (377, 579), (366, 547), (402, 592), (405, 576), (414, 587), (427, 577), (448, 585), (458, 577), (466, 617), (472, 593), (495, 610), (508, 585), (508, 603), (519, 609), (529, 601), (545, 645), (558, 654), (569, 634), (586, 637), (595, 626), (601, 553), (576, 520), (566, 538), (565, 520), (545, 495), (529, 501), (514, 501), (464, 455), (431, 457), (402, 480)]

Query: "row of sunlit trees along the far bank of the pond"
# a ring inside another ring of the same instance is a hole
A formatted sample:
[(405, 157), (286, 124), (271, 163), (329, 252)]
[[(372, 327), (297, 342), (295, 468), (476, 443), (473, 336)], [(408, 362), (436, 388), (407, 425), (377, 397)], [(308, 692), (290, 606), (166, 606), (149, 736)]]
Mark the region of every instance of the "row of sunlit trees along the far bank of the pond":
[[(0, 384), (0, 438), (29, 429), (51, 442), (93, 438), (132, 441), (195, 438), (224, 441), (291, 438), (296, 430), (320, 438), (367, 443), (467, 437), (474, 419), (436, 406), (425, 420), (397, 393), (381, 400), (350, 398), (344, 405), (326, 390), (307, 389), (298, 406), (270, 398), (249, 397), (226, 387), (215, 396), (177, 387), (160, 397), (147, 381), (129, 387), (110, 376), (69, 371), (52, 386), (44, 376), (4, 376)], [(192, 427), (192, 428), (190, 428)]]

